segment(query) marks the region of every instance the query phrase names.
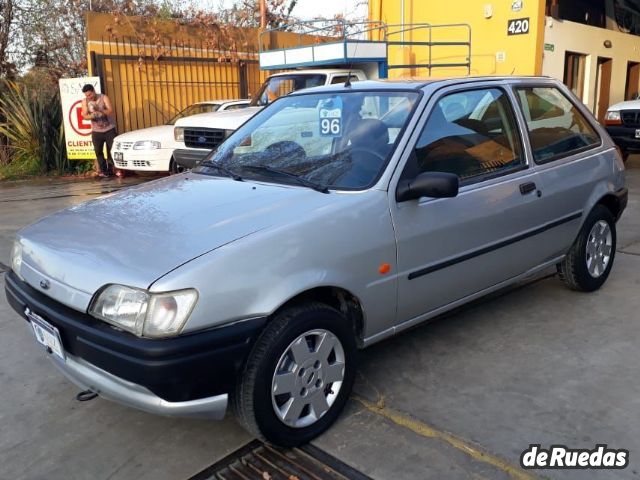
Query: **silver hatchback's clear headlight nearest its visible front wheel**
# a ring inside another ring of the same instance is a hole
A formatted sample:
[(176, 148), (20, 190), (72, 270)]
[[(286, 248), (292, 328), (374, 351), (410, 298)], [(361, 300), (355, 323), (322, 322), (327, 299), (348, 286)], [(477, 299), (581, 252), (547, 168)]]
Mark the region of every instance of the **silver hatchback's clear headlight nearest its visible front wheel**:
[(89, 314), (139, 337), (179, 334), (198, 300), (194, 289), (154, 293), (124, 285), (107, 285)]

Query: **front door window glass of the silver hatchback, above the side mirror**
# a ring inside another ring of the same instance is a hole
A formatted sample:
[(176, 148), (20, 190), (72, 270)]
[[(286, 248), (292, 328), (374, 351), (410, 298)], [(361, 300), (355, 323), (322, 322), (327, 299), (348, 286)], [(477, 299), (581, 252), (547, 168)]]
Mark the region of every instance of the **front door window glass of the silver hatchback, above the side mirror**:
[(457, 92), (441, 98), (416, 145), (419, 172), (454, 173), (479, 181), (524, 166), (515, 116), (499, 89)]

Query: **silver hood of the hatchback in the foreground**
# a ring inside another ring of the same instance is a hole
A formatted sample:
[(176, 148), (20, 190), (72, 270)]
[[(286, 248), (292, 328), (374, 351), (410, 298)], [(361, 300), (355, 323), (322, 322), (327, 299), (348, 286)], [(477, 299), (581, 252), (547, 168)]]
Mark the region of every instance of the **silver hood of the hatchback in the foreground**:
[(186, 173), (55, 213), (18, 238), (22, 261), (54, 282), (86, 294), (108, 283), (147, 288), (195, 257), (304, 218), (336, 196)]

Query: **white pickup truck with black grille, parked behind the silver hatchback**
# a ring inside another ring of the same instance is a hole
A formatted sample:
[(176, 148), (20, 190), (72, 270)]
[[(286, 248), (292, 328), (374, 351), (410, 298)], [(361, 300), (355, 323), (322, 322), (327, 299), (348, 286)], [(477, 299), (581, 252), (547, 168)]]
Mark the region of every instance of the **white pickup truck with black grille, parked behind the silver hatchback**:
[(173, 152), (178, 169), (193, 168), (197, 162), (218, 147), (234, 130), (278, 97), (303, 88), (366, 80), (362, 70), (318, 69), (295, 70), (271, 75), (262, 84), (249, 107), (231, 112), (192, 115), (178, 120), (174, 127), (176, 142), (184, 148)]

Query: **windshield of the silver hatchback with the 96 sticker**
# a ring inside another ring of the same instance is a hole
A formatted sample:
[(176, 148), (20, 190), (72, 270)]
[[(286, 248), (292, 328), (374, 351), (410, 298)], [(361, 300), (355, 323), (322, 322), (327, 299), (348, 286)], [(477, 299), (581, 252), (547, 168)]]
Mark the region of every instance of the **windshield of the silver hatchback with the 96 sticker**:
[[(279, 99), (193, 171), (361, 190), (384, 170), (419, 98), (415, 91), (343, 91)], [(222, 173), (221, 173), (222, 172)], [(238, 178), (236, 178), (238, 179)]]

